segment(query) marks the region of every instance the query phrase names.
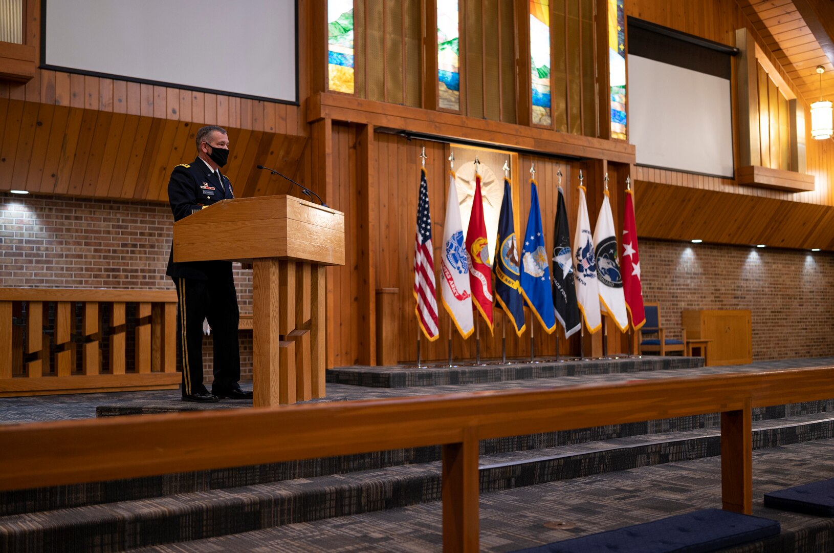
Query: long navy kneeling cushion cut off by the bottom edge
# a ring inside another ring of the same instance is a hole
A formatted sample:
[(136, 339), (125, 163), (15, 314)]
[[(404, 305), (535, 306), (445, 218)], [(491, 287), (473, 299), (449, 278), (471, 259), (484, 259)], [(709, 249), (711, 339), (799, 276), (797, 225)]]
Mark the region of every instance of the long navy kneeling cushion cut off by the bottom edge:
[(515, 553), (706, 553), (778, 535), (776, 520), (703, 509)]

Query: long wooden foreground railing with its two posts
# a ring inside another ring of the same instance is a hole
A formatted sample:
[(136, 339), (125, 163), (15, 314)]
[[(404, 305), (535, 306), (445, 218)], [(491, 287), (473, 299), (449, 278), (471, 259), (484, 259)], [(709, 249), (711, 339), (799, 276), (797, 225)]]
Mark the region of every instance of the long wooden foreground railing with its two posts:
[(829, 367), (5, 425), (0, 490), (440, 444), (444, 550), (476, 551), (479, 440), (720, 412), (723, 508), (750, 513), (751, 409), (832, 397)]

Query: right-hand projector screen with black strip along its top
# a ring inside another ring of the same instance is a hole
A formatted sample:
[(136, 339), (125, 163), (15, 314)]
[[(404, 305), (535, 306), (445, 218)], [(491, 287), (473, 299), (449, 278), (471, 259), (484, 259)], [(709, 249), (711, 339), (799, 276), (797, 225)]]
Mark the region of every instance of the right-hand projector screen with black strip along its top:
[(637, 164), (732, 178), (730, 53), (631, 18), (628, 41), (629, 138)]

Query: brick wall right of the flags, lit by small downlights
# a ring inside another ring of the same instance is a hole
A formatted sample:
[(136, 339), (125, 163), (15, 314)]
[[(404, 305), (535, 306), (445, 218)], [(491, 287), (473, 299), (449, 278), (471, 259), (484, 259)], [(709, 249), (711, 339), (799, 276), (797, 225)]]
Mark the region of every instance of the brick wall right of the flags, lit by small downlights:
[(667, 335), (683, 309), (750, 309), (753, 360), (834, 355), (834, 256), (641, 239), (643, 298)]

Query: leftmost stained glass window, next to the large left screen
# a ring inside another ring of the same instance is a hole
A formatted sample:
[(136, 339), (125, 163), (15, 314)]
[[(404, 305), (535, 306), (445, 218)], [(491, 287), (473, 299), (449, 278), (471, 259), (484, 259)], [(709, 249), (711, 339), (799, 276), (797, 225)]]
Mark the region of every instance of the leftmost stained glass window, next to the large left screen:
[(329, 89), (354, 93), (354, 0), (328, 0)]

